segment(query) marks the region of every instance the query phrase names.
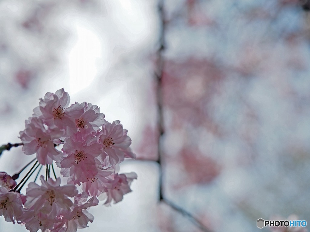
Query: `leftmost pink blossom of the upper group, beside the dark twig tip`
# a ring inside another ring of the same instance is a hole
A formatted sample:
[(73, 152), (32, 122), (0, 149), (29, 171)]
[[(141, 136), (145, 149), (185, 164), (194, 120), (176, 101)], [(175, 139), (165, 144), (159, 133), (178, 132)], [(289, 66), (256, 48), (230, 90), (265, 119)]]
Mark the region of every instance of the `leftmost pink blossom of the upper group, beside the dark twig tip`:
[(26, 155), (37, 153), (37, 159), (42, 165), (51, 164), (60, 158), (61, 152), (55, 148), (54, 143), (60, 143), (59, 138), (64, 132), (59, 128), (46, 129), (39, 118), (29, 118), (25, 123), (26, 129), (20, 131), (23, 152)]

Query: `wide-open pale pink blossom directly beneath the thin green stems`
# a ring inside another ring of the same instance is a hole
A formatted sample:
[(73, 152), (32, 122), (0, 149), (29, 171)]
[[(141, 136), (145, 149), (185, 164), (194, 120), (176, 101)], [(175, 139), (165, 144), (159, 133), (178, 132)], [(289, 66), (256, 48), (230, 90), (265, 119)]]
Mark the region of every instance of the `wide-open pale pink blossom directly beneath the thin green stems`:
[(68, 197), (78, 194), (76, 187), (73, 185), (60, 186), (60, 178), (57, 178), (56, 181), (48, 178), (46, 181), (41, 176), (40, 180), (41, 186), (34, 182), (29, 183), (25, 207), (35, 212), (45, 213), (51, 218), (62, 212), (66, 213), (73, 205)]

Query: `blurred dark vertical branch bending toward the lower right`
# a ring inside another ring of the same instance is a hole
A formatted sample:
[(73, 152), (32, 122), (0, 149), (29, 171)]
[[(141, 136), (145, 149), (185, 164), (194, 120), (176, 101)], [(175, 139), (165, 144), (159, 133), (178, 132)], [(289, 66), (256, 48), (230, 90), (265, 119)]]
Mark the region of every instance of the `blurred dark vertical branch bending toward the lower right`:
[[(164, 0), (159, 0), (158, 2), (158, 13), (160, 19), (160, 31), (159, 31), (159, 46), (156, 51), (156, 62), (157, 62), (157, 70), (155, 70), (155, 80), (157, 83), (156, 86), (156, 94), (157, 94), (157, 130), (159, 132), (158, 135), (158, 149), (157, 149), (157, 163), (159, 164), (159, 200), (169, 205), (171, 208), (181, 213), (184, 217), (188, 217), (190, 221), (193, 222), (201, 231), (211, 232), (208, 230), (201, 222), (199, 222), (191, 213), (174, 204), (170, 200), (166, 199), (163, 195), (163, 135), (165, 133), (164, 130), (164, 118), (163, 118), (163, 91), (162, 91), (162, 76), (164, 69), (164, 57), (163, 51), (165, 50), (165, 12), (164, 12)], [(145, 160), (145, 159), (143, 159)], [(152, 160), (149, 160), (152, 161)]]

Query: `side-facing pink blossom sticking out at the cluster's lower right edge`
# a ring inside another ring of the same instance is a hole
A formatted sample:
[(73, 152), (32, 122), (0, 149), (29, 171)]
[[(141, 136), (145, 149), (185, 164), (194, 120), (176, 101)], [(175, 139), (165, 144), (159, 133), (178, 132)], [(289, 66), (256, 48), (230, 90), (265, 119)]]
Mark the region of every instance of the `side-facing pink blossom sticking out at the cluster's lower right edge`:
[(131, 182), (137, 179), (137, 174), (134, 172), (126, 174), (115, 174), (114, 180), (112, 182), (111, 189), (108, 189), (106, 193), (101, 193), (99, 195), (99, 200), (106, 199), (104, 205), (110, 206), (111, 202), (117, 203), (123, 200), (123, 196), (126, 193), (131, 192), (130, 185)]

